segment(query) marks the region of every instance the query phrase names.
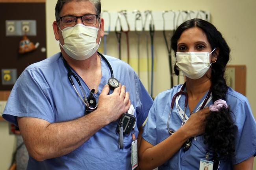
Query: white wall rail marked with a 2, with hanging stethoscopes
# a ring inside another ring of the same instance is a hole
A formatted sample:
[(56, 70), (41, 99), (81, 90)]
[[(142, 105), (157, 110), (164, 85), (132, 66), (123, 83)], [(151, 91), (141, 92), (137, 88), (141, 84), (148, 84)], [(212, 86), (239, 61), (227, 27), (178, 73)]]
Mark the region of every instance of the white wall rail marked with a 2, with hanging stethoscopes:
[[(154, 24), (155, 31), (175, 30), (180, 24), (192, 18), (210, 21), (210, 11), (202, 10), (169, 10), (169, 11), (102, 11), (104, 30), (115, 31), (122, 29), (130, 31), (149, 31), (149, 24)], [(137, 22), (137, 23), (136, 23)], [(142, 24), (141, 24), (142, 23)], [(121, 25), (121, 26), (120, 26)]]

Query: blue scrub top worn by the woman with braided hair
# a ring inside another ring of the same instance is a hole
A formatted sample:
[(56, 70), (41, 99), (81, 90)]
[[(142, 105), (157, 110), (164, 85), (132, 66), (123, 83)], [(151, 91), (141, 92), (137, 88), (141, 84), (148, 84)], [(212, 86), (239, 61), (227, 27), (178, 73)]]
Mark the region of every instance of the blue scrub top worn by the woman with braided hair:
[[(180, 90), (182, 85), (174, 86), (172, 89), (163, 91), (154, 100), (154, 104), (148, 113), (148, 121), (144, 126), (143, 139), (152, 145), (156, 145), (170, 136), (167, 130), (167, 119), (170, 113), (170, 106), (173, 96)], [(207, 92), (208, 93), (208, 92)], [(199, 104), (205, 99), (207, 93), (198, 102), (195, 110)], [(182, 95), (178, 104), (184, 110), (185, 97)], [(251, 156), (256, 155), (256, 122), (252, 115), (249, 102), (247, 98), (228, 88), (226, 93), (226, 102), (233, 113), (234, 121), (237, 126), (236, 136), (236, 152), (231, 161), (221, 161), (219, 170), (232, 170), (234, 164), (241, 163)], [(213, 104), (212, 101), (207, 106)], [(195, 112), (193, 110), (193, 112)], [(189, 117), (189, 109), (186, 109), (186, 115)], [(171, 130), (178, 130), (182, 124), (182, 119), (174, 107), (169, 121), (169, 128)], [(169, 144), (169, 147), (172, 147)], [(159, 170), (198, 170), (200, 159), (206, 160), (206, 152), (210, 152), (209, 160), (213, 157), (213, 152), (208, 149), (208, 145), (204, 144), (203, 135), (192, 139), (192, 145), (184, 152), (180, 149), (163, 165), (158, 167)]]

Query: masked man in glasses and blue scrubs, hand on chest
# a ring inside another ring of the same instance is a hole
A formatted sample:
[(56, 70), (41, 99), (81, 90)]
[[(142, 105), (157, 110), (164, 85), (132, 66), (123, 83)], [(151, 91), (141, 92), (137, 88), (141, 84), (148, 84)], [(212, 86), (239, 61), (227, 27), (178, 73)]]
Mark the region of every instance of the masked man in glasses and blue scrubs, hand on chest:
[[(100, 8), (100, 0), (58, 0), (53, 29), (61, 53), (28, 66), (11, 91), (3, 117), (19, 126), (30, 154), (28, 170), (132, 169), (132, 134), (140, 139), (152, 99), (135, 71), (109, 56), (105, 57), (121, 85), (114, 90), (106, 85), (110, 67), (97, 53), (104, 36)], [(98, 107), (93, 112), (85, 115), (68, 68), (86, 97), (95, 89)], [(130, 106), (135, 108), (136, 124), (132, 134), (124, 135), (120, 149), (116, 127)]]

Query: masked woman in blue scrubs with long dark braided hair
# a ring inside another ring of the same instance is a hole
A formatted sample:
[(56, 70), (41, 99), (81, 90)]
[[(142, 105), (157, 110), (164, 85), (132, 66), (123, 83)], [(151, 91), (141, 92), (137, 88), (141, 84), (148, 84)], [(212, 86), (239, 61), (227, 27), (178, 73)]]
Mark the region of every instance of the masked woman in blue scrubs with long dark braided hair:
[[(174, 71), (186, 84), (156, 97), (142, 135), (141, 170), (252, 170), (256, 122), (247, 98), (226, 85), (230, 48), (221, 33), (207, 21), (188, 20), (171, 47)], [(188, 99), (174, 97), (179, 91)]]

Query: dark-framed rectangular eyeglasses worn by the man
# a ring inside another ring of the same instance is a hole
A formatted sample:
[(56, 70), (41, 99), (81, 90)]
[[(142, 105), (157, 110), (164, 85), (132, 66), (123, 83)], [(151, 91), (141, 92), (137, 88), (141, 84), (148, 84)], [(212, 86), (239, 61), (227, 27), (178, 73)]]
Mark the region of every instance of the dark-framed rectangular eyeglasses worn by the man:
[(83, 16), (62, 16), (61, 20), (63, 27), (74, 27), (77, 22), (77, 18), (81, 18), (85, 26), (94, 26), (97, 24), (98, 15), (87, 14)]

